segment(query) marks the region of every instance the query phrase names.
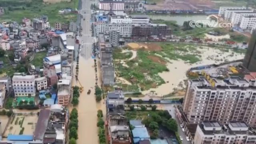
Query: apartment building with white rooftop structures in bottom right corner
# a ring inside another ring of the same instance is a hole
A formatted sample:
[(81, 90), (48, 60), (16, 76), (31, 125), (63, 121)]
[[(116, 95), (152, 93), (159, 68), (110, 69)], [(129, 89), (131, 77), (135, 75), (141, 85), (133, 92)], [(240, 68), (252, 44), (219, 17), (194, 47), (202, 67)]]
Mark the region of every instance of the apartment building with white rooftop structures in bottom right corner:
[(232, 121), (221, 125), (217, 121), (198, 124), (192, 144), (255, 144), (256, 133), (245, 122)]

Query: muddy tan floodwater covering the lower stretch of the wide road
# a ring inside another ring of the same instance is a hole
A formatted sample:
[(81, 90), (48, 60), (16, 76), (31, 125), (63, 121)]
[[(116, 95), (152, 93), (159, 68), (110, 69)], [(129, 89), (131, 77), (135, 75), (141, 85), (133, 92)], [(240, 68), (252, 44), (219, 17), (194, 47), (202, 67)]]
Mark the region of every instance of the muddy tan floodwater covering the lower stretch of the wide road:
[[(103, 100), (96, 103), (94, 89), (90, 95), (87, 94), (88, 89), (94, 88), (96, 82), (93, 59), (86, 60), (80, 56), (78, 79), (84, 86), (84, 91), (80, 94), (79, 104), (76, 107), (79, 126), (77, 144), (98, 144), (97, 110), (102, 109), (106, 112), (106, 106)], [(79, 85), (78, 82), (74, 84)]]

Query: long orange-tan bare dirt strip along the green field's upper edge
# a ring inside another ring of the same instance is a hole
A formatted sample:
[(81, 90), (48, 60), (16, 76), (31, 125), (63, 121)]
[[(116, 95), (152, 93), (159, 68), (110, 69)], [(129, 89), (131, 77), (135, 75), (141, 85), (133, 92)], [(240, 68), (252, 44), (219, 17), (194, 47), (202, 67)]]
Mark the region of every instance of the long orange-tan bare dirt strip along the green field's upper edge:
[(149, 51), (161, 51), (162, 48), (158, 44), (155, 43), (128, 43), (127, 46), (129, 46), (132, 49), (139, 49), (139, 48), (144, 48), (145, 50)]

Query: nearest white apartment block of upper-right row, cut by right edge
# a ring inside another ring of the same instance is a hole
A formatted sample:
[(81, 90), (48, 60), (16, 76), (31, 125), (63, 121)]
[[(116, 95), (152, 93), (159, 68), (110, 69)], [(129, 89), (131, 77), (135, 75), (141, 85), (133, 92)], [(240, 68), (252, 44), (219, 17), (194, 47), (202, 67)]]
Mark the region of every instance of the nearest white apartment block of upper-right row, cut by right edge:
[(240, 28), (242, 29), (252, 29), (256, 25), (256, 16), (243, 16)]

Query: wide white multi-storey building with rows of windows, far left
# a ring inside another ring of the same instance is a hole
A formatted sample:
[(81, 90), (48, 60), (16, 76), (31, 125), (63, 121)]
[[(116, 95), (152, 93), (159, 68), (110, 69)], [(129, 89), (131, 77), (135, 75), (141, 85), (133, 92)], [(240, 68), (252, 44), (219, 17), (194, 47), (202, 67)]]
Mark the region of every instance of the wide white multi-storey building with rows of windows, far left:
[(35, 76), (18, 76), (12, 77), (12, 87), (14, 89), (14, 96), (35, 96)]

